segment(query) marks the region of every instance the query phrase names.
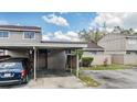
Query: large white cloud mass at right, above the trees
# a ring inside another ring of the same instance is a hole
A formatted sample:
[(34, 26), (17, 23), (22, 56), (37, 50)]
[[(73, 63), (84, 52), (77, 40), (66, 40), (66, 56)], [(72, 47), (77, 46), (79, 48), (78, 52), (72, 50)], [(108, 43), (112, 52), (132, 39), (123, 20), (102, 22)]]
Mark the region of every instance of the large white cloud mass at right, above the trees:
[(137, 13), (97, 13), (97, 16), (91, 23), (91, 26), (103, 26), (106, 23), (107, 30), (113, 30), (114, 26), (124, 29), (137, 29)]

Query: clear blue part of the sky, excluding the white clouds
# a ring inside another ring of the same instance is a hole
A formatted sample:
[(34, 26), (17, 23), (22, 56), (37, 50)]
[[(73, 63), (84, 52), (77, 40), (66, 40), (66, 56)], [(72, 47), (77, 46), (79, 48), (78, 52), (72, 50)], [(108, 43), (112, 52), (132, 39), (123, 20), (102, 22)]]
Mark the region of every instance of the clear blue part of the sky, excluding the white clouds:
[[(65, 19), (68, 26), (60, 26), (53, 23), (45, 22), (42, 16), (54, 14)], [(96, 13), (44, 13), (44, 12), (32, 12), (32, 13), (0, 13), (0, 21), (6, 21), (8, 24), (20, 24), (20, 25), (39, 25), (43, 29), (43, 33), (62, 31), (80, 31), (82, 29), (88, 29), (89, 23), (96, 16)]]

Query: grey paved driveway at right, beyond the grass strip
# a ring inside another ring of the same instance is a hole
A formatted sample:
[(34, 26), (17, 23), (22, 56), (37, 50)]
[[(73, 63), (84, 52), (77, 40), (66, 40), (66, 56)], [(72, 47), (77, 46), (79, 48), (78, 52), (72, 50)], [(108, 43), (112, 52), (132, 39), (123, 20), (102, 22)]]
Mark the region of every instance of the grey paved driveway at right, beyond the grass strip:
[(136, 89), (137, 69), (120, 70), (84, 70), (85, 75), (91, 76), (102, 83), (103, 89)]

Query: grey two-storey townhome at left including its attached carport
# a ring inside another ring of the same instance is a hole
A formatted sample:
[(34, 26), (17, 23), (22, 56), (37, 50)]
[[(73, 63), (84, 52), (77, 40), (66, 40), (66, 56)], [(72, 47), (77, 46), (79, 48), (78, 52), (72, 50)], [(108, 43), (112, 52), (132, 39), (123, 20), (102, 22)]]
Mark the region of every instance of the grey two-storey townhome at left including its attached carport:
[[(28, 57), (32, 61), (34, 79), (40, 69), (65, 70), (71, 50), (86, 47), (83, 42), (42, 41), (40, 26), (0, 25), (0, 49), (11, 57)], [(78, 55), (76, 69), (78, 75)]]

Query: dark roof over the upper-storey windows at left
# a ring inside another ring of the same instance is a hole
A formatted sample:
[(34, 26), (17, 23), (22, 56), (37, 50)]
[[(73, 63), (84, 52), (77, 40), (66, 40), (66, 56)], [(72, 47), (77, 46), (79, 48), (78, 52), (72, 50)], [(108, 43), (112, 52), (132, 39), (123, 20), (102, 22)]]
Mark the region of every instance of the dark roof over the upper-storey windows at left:
[(0, 25), (0, 31), (15, 31), (15, 32), (38, 32), (41, 33), (39, 26), (22, 26), (22, 25)]

